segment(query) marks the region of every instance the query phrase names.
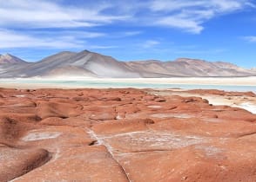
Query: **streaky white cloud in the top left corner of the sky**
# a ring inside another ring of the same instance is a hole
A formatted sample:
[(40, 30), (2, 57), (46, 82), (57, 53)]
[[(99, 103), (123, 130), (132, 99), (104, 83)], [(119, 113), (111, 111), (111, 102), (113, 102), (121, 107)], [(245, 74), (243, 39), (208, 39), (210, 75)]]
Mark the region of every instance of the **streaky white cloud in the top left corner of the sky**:
[(35, 28), (91, 27), (127, 18), (102, 14), (109, 6), (101, 3), (95, 7), (79, 8), (49, 0), (1, 0), (0, 25)]

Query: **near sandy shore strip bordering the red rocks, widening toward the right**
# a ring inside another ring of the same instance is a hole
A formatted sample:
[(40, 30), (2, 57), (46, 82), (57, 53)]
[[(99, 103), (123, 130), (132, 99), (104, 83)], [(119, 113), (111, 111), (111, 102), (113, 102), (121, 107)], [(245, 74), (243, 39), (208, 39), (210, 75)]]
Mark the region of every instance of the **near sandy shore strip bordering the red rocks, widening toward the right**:
[[(0, 83), (0, 88), (17, 88), (17, 89), (87, 89), (91, 87), (74, 87), (74, 86), (67, 86), (67, 85), (54, 85), (54, 84), (45, 84), (45, 83)], [(118, 87), (116, 87), (118, 88)], [(124, 87), (120, 87), (121, 89), (125, 89)], [(106, 87), (95, 87), (93, 89), (108, 89)], [(135, 88), (140, 90), (152, 90), (158, 91), (158, 93), (162, 95), (179, 95), (182, 97), (190, 97), (190, 96), (196, 96), (200, 97), (202, 99), (205, 99), (209, 101), (210, 104), (214, 106), (229, 106), (229, 107), (239, 107), (243, 108), (253, 114), (256, 114), (256, 98), (250, 97), (250, 96), (226, 96), (226, 95), (218, 95), (218, 94), (192, 94), (188, 93), (188, 91), (192, 89), (184, 89), (184, 88)], [(205, 89), (203, 90), (212, 90), (212, 89)], [(147, 91), (146, 91), (147, 92)], [(150, 91), (151, 92), (151, 91)], [(225, 90), (226, 93), (228, 93), (227, 90)], [(239, 93), (243, 93), (243, 91), (237, 91)], [(167, 94), (166, 94), (167, 93)], [(254, 92), (256, 93), (256, 92)]]

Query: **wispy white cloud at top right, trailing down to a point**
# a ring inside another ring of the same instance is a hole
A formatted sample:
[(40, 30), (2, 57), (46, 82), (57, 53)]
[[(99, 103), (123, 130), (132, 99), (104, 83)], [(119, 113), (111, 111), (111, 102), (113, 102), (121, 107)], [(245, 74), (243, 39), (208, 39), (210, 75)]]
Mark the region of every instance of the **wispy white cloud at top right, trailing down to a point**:
[(242, 10), (246, 6), (254, 5), (250, 0), (152, 0), (149, 7), (158, 15), (154, 24), (199, 34), (204, 29), (203, 23), (214, 16)]

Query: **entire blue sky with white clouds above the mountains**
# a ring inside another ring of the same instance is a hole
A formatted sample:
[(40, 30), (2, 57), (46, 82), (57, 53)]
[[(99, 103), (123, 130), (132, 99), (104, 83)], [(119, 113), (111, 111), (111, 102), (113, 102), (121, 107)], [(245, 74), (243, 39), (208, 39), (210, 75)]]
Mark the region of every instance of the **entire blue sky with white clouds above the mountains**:
[(120, 61), (179, 57), (256, 67), (255, 0), (0, 0), (0, 54), (84, 49)]

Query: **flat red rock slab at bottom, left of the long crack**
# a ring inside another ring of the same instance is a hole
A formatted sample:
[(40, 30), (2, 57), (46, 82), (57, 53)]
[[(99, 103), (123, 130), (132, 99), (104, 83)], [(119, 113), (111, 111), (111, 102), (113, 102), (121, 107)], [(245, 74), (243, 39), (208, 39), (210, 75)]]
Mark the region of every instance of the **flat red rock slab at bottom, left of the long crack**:
[(42, 167), (16, 181), (128, 181), (103, 146), (64, 147)]

